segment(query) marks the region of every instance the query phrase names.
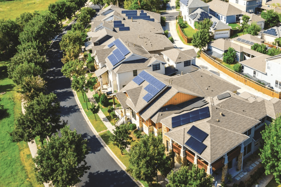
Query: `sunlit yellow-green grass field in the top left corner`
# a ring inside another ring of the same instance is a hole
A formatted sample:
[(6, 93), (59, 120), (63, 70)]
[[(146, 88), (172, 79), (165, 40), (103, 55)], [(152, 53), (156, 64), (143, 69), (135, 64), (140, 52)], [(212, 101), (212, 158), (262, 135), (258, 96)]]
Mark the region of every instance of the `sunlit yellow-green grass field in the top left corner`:
[(19, 0), (0, 2), (0, 19), (15, 20), (24, 12), (39, 11), (44, 13), (48, 11), (48, 6), (58, 0)]

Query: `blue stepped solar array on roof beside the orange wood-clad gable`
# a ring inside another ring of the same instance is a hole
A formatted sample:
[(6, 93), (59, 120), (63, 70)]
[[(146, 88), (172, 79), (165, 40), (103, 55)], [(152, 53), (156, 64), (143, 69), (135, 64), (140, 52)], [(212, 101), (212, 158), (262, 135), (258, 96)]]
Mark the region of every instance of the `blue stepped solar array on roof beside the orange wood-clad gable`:
[(144, 81), (147, 81), (149, 84), (144, 88), (148, 93), (143, 97), (146, 102), (149, 102), (157, 93), (159, 93), (166, 84), (162, 83), (160, 80), (156, 79), (149, 73), (142, 71), (138, 76), (136, 76), (133, 81), (140, 85)]

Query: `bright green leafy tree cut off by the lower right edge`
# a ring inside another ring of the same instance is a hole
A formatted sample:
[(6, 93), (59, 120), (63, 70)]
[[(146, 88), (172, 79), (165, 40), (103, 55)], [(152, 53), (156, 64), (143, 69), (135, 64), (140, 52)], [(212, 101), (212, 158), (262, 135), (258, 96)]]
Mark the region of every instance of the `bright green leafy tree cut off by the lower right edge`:
[(277, 183), (281, 184), (281, 116), (276, 115), (276, 119), (269, 125), (265, 125), (265, 130), (261, 132), (264, 146), (260, 149), (259, 156), (265, 168), (265, 174), (273, 174)]

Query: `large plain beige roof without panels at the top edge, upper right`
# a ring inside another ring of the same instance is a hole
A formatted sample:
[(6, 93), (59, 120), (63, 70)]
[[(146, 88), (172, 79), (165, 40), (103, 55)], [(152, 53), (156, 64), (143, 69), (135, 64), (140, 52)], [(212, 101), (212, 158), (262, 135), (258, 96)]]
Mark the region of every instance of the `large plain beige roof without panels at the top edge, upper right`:
[(234, 7), (233, 5), (223, 2), (220, 0), (212, 0), (211, 2), (207, 3), (210, 9), (218, 14), (223, 16), (232, 16), (232, 15), (239, 15), (242, 14), (242, 10), (239, 8)]

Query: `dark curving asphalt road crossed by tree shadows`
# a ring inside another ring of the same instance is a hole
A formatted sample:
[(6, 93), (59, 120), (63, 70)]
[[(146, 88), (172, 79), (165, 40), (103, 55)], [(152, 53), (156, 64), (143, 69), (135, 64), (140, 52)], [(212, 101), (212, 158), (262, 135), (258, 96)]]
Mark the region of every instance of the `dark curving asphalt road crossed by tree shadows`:
[[(70, 28), (68, 28), (70, 29)], [(65, 32), (64, 32), (65, 33)], [(61, 104), (61, 119), (68, 120), (71, 130), (87, 139), (90, 153), (86, 156), (87, 165), (91, 169), (81, 178), (77, 187), (134, 187), (138, 186), (129, 175), (116, 163), (101, 145), (80, 112), (74, 95), (71, 91), (70, 80), (61, 73), (62, 51), (59, 49), (60, 34), (53, 41), (51, 49), (47, 52), (50, 70), (46, 73), (47, 87), (50, 92), (57, 94)]]

